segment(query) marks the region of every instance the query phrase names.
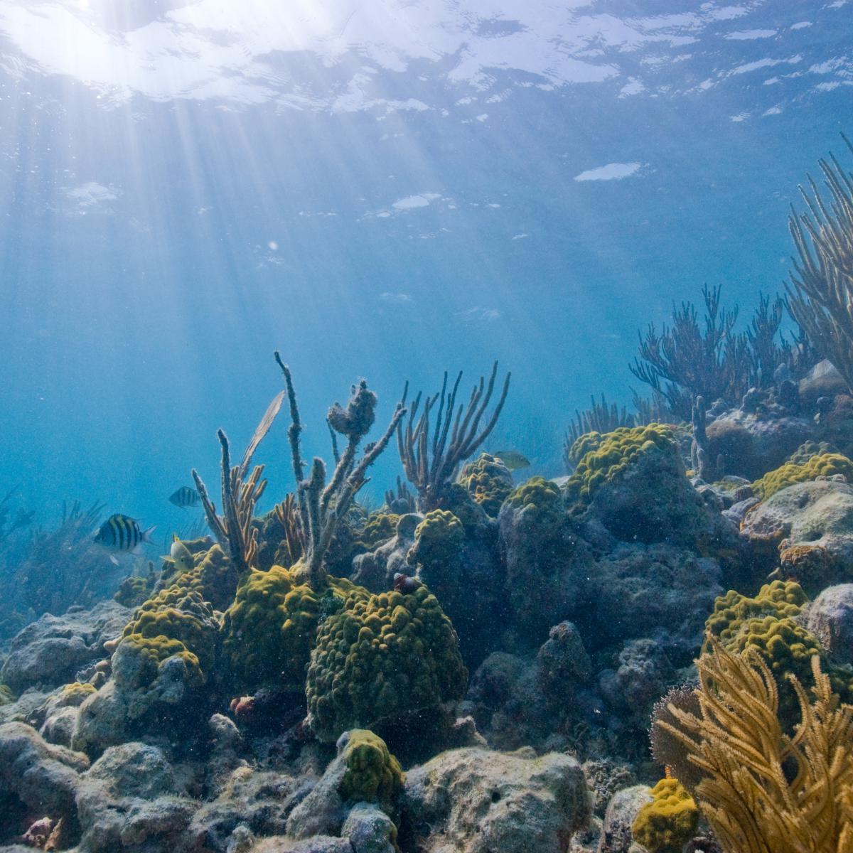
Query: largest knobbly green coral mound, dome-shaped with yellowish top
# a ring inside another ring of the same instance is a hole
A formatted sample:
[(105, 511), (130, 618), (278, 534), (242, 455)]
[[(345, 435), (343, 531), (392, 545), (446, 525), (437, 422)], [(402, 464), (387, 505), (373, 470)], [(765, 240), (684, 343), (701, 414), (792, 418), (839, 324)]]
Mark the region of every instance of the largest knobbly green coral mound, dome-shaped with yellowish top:
[(311, 728), (335, 740), (367, 725), (465, 693), (456, 631), (426, 586), (408, 595), (347, 596), (317, 629), (306, 694)]

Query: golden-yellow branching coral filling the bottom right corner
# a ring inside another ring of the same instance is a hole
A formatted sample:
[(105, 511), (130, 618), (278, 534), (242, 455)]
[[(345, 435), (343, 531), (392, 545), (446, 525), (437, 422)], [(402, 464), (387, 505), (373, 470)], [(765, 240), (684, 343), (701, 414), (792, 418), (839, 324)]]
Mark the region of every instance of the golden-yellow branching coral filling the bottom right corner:
[(698, 663), (699, 714), (672, 706), (659, 723), (703, 772), (695, 796), (724, 853), (846, 853), (853, 849), (853, 708), (811, 661), (809, 702), (792, 677), (801, 724), (786, 734), (767, 664), (717, 641)]

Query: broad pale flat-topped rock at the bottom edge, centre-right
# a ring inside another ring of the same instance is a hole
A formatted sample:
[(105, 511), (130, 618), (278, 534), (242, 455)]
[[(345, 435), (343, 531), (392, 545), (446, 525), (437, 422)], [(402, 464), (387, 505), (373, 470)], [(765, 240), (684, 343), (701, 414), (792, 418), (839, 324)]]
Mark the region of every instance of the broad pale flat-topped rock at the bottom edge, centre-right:
[(589, 795), (572, 757), (469, 747), (410, 770), (402, 814), (401, 838), (417, 836), (421, 853), (563, 853)]

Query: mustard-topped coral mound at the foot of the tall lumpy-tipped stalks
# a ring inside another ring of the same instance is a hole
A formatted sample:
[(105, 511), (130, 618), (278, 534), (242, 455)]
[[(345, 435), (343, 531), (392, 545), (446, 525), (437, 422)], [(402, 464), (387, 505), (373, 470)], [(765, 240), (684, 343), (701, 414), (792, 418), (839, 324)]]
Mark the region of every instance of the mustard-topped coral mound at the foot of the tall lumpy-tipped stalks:
[(349, 595), (368, 592), (345, 578), (330, 577), (317, 593), (299, 583), (291, 569), (252, 569), (223, 617), (223, 655), (241, 687), (275, 684), (303, 688), (305, 668), (322, 612), (341, 606)]

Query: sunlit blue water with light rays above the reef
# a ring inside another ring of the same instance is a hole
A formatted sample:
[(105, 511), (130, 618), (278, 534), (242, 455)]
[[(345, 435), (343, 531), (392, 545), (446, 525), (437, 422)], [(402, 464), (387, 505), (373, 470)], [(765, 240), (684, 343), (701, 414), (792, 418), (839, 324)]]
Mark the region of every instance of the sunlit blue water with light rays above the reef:
[(0, 494), (186, 524), (167, 496), (218, 490), (276, 348), (308, 453), (357, 378), (384, 422), (497, 358), (487, 449), (562, 473), (673, 299), (780, 289), (797, 184), (853, 134), (850, 44), (844, 0), (3, 0)]

